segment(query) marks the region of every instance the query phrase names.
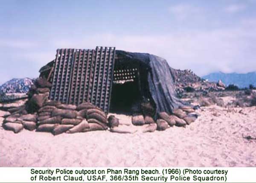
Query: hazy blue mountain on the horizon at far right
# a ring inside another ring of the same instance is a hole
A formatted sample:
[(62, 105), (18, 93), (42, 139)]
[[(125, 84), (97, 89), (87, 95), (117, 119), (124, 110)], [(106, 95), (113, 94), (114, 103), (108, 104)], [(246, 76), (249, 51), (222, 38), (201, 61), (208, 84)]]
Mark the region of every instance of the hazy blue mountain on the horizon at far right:
[(240, 88), (249, 87), (250, 84), (256, 86), (256, 72), (250, 72), (245, 74), (239, 73), (210, 73), (202, 78), (208, 79), (208, 81), (217, 82), (221, 80), (224, 84), (236, 84)]

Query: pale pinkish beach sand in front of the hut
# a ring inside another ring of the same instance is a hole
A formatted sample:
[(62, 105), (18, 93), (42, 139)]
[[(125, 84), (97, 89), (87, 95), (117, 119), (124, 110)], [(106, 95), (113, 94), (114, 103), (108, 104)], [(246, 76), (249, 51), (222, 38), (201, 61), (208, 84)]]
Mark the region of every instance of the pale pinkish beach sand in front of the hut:
[[(256, 137), (256, 107), (202, 109), (186, 128), (144, 134), (140, 128), (134, 134), (95, 131), (58, 136), (27, 130), (14, 134), (1, 128), (0, 166), (255, 167), (256, 140), (242, 135)], [(131, 124), (131, 116), (118, 117)]]

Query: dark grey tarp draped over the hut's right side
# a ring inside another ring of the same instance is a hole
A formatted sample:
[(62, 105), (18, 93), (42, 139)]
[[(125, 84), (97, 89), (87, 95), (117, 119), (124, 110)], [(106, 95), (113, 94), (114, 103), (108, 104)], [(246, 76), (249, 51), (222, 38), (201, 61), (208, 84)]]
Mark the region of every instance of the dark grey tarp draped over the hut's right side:
[(172, 113), (173, 109), (186, 105), (176, 97), (172, 69), (165, 59), (148, 53), (132, 53), (121, 50), (116, 50), (116, 55), (121, 58), (129, 58), (131, 64), (133, 61), (138, 62), (142, 66), (140, 68), (147, 70), (147, 82), (141, 82), (141, 85), (142, 89), (149, 89), (157, 112)]

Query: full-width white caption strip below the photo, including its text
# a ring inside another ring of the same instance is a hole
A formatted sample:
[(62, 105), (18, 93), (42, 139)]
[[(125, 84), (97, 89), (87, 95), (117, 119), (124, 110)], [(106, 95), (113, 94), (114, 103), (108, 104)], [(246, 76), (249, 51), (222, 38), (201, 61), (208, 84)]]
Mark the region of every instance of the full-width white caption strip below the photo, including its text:
[(256, 168), (0, 168), (0, 183), (250, 183), (256, 182), (255, 172)]

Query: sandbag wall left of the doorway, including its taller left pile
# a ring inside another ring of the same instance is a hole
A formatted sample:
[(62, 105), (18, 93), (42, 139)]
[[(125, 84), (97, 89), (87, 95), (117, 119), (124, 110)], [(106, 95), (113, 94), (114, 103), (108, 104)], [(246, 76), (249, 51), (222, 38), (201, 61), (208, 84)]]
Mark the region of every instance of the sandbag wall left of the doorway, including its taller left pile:
[(15, 133), (25, 128), (54, 135), (108, 128), (107, 115), (99, 107), (89, 102), (76, 106), (49, 100), (50, 87), (48, 81), (37, 78), (26, 104), (9, 109), (10, 115), (4, 119), (3, 128)]

